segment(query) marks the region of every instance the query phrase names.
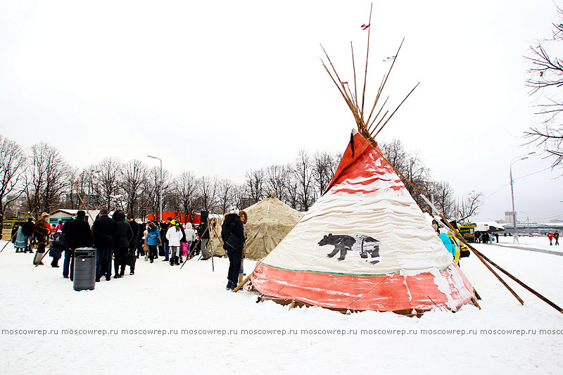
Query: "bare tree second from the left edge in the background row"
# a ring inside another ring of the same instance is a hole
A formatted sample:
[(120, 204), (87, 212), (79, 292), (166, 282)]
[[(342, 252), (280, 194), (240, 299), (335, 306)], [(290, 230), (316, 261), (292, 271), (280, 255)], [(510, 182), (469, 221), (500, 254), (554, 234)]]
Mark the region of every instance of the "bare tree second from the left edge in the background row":
[(49, 212), (56, 207), (67, 185), (67, 164), (58, 150), (39, 142), (30, 150), (31, 165), (25, 175), (25, 194), (30, 211)]

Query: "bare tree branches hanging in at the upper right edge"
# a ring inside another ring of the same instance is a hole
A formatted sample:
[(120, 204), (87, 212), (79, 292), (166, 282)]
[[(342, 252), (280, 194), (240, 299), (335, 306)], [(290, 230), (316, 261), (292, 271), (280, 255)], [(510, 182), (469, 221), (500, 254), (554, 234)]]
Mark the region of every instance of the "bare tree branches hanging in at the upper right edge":
[(543, 147), (554, 158), (552, 167), (563, 163), (563, 125), (560, 119), (563, 100), (559, 95), (563, 86), (563, 60), (557, 57), (563, 42), (562, 8), (557, 7), (557, 13), (559, 21), (552, 24), (552, 37), (538, 40), (536, 45), (530, 46), (529, 56), (524, 56), (531, 63), (530, 77), (526, 80), (530, 94), (543, 97), (537, 113), (542, 118), (540, 124), (524, 134), (531, 143)]

